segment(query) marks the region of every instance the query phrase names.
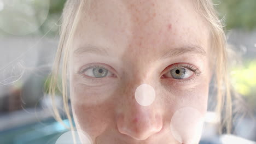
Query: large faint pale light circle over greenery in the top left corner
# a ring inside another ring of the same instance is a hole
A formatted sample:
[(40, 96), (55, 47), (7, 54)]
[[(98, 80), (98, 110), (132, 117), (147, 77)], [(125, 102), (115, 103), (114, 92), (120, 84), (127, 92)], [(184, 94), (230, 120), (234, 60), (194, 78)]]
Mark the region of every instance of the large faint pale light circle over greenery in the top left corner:
[(49, 9), (49, 0), (0, 0), (0, 29), (13, 35), (40, 31)]

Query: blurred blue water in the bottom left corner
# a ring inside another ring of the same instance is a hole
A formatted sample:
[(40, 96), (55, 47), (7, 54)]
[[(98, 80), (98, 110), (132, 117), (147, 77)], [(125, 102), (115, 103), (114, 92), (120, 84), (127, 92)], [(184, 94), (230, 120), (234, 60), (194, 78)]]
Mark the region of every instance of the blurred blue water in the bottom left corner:
[[(63, 121), (68, 124), (68, 120)], [(22, 127), (0, 132), (1, 144), (55, 144), (63, 133), (68, 131), (55, 119), (23, 125)]]

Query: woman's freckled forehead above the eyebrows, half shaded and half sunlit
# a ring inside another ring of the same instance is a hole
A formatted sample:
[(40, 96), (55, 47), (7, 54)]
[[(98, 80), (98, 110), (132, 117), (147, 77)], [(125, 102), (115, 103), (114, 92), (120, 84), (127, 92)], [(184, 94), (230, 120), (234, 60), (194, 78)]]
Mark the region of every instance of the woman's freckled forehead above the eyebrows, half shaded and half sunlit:
[(191, 0), (92, 1), (80, 16), (74, 50), (88, 45), (134, 55), (189, 45), (206, 50), (209, 29), (195, 7)]

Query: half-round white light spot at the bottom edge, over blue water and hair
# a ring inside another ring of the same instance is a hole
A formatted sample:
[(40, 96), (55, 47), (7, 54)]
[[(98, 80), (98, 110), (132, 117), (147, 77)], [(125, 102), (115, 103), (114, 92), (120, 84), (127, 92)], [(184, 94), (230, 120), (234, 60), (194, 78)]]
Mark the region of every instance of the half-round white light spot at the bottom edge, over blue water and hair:
[[(74, 134), (75, 141), (73, 140), (72, 133)], [(55, 144), (92, 144), (90, 136), (82, 131), (67, 131), (62, 134), (59, 139), (55, 142)]]

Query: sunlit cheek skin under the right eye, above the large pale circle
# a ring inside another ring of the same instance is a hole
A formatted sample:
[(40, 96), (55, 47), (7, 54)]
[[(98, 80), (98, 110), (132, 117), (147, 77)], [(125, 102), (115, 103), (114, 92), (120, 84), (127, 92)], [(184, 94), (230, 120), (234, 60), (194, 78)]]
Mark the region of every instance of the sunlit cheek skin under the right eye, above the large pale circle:
[(183, 83), (164, 83), (164, 87), (159, 89), (159, 95), (164, 95), (166, 107), (172, 111), (181, 109), (181, 107), (194, 107), (201, 113), (207, 110), (209, 80), (198, 79), (193, 82)]

